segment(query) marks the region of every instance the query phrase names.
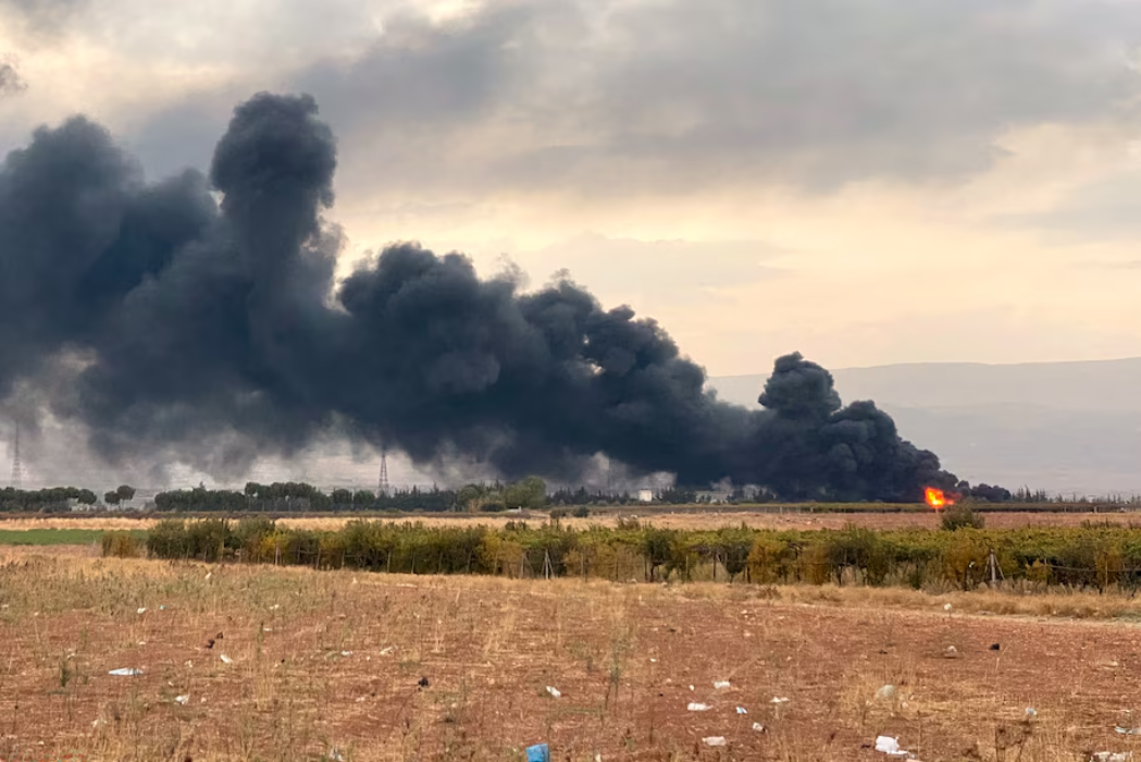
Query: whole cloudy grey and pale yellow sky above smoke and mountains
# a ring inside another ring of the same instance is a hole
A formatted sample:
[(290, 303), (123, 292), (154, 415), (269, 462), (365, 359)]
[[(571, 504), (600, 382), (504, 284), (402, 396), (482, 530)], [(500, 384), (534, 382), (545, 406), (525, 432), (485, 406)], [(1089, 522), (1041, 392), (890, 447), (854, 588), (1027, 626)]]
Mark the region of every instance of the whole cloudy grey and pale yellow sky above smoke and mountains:
[(0, 0), (0, 149), (307, 91), (346, 263), (566, 268), (712, 375), (1141, 355), (1138, 0)]

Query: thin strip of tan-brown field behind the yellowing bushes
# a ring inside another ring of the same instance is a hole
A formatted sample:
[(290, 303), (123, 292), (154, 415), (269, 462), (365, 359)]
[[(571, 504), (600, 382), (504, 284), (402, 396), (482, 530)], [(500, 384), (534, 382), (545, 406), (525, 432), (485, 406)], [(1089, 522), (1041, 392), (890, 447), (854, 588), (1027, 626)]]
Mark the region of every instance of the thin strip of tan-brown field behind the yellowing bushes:
[[(1020, 527), (1078, 527), (1085, 521), (1112, 522), (1119, 524), (1141, 526), (1141, 512), (1101, 512), (1101, 513), (1018, 513), (1018, 512), (993, 512), (984, 514), (988, 528), (1011, 529)], [(322, 518), (284, 518), (280, 519), (283, 526), (297, 527), (301, 529), (340, 529), (346, 522), (353, 521), (357, 516), (322, 516)], [(489, 527), (502, 527), (508, 521), (542, 522), (547, 519), (545, 513), (534, 513), (526, 515), (504, 514), (423, 514), (423, 515), (399, 515), (369, 516), (379, 521), (419, 521), (428, 526), (470, 526), (472, 523)], [(763, 529), (842, 529), (848, 526), (867, 527), (869, 529), (937, 529), (939, 527), (939, 515), (933, 511), (921, 513), (755, 513), (755, 512), (731, 512), (710, 511), (707, 513), (664, 513), (655, 512), (644, 514), (640, 520), (652, 523), (655, 527), (666, 529), (717, 529), (720, 527), (739, 527), (746, 524), (753, 528)], [(3, 519), (0, 518), (0, 529), (29, 530), (29, 529), (146, 529), (155, 523), (155, 519), (131, 519), (131, 518), (33, 518), (33, 519)], [(613, 527), (617, 523), (614, 514), (592, 515), (586, 519), (565, 518), (564, 526), (582, 529), (591, 524)]]

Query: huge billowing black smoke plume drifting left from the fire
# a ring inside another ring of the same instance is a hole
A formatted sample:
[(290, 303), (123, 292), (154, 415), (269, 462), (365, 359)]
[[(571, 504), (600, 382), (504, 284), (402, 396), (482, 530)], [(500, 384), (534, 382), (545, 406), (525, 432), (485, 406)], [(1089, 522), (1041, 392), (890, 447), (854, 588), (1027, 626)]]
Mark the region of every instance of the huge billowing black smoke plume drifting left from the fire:
[(111, 460), (230, 472), (335, 427), (508, 478), (574, 479), (605, 454), (785, 498), (955, 483), (799, 354), (777, 361), (764, 410), (727, 404), (653, 320), (568, 280), (524, 294), (403, 243), (334, 284), (335, 165), (308, 96), (254, 96), (209, 177), (157, 184), (83, 118), (39, 129), (0, 168), (0, 394), (32, 379)]

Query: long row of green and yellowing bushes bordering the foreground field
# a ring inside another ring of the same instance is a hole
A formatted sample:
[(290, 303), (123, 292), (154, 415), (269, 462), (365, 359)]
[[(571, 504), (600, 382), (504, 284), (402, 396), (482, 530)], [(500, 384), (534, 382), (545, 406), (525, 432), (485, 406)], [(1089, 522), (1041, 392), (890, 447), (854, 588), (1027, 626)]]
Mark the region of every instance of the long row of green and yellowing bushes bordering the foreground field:
[[(105, 548), (115, 545), (108, 540)], [(492, 529), (358, 520), (338, 531), (316, 532), (281, 527), (268, 518), (236, 523), (168, 519), (149, 531), (146, 547), (152, 558), (160, 559), (234, 559), (400, 573), (581, 576), (622, 581), (744, 579), (961, 589), (994, 577), (1043, 586), (1141, 587), (1141, 529), (1120, 526), (681, 531), (625, 521), (615, 529), (575, 531), (558, 522), (539, 527), (508, 522)]]

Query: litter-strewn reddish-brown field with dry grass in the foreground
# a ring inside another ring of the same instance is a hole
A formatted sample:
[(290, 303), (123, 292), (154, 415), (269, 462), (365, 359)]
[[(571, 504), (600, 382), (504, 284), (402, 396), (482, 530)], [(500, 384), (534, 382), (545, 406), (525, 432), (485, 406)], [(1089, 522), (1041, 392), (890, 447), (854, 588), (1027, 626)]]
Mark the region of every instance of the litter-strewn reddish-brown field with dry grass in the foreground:
[[(1055, 611), (1116, 618), (1039, 616)], [(0, 759), (523, 760), (547, 741), (559, 762), (847, 761), (889, 759), (872, 748), (885, 733), (926, 761), (1082, 760), (1141, 745), (1114, 730), (1141, 709), (1138, 617), (1141, 602), (1115, 595), (389, 577), (6, 550)]]

